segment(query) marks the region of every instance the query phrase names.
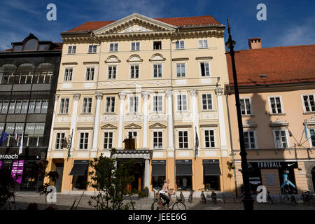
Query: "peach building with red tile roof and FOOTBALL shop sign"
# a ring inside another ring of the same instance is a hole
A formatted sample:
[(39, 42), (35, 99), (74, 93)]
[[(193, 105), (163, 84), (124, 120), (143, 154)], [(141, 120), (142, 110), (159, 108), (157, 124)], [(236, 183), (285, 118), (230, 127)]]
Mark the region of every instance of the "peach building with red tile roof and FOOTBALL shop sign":
[[(271, 194), (281, 194), (288, 181), (299, 194), (314, 190), (315, 45), (262, 48), (260, 38), (250, 38), (248, 44), (249, 50), (235, 54), (235, 63), (251, 190), (255, 193), (263, 185)], [(225, 90), (240, 193), (243, 181), (230, 55), (227, 60), (230, 84)]]

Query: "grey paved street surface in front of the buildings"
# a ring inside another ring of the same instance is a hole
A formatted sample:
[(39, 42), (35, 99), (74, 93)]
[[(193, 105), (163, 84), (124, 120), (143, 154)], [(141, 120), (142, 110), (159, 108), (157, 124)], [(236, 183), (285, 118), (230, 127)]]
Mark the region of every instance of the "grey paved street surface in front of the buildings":
[[(34, 192), (18, 192), (16, 193), (17, 197), (15, 198), (16, 202), (16, 209), (26, 209), (27, 204), (29, 203), (37, 203), (38, 209), (44, 209), (45, 208), (45, 196), (39, 195), (38, 193)], [(59, 210), (68, 210), (70, 209), (71, 205), (73, 204), (74, 200), (76, 199), (76, 202), (80, 199), (81, 195), (62, 195), (57, 194), (57, 202), (53, 203), (57, 206), (57, 209)], [(87, 209), (94, 209), (93, 207), (90, 207), (90, 205), (87, 203), (89, 200), (91, 200), (90, 195), (83, 195), (83, 197), (80, 200), (80, 204), (78, 205), (78, 209), (80, 210), (87, 210)], [(133, 198), (134, 202), (136, 204), (134, 205), (134, 208), (136, 210), (150, 210), (151, 204), (153, 202), (152, 198), (142, 198), (138, 199), (137, 197)], [(217, 204), (214, 204), (211, 201), (207, 201), (207, 204), (202, 204), (200, 202), (199, 198), (194, 198), (193, 203), (188, 203), (188, 200), (186, 200), (186, 207), (188, 210), (243, 210), (243, 204), (237, 200), (230, 200), (226, 202), (217, 202)], [(47, 203), (49, 205), (49, 203)], [(11, 206), (13, 209), (14, 207)], [(283, 204), (281, 202), (276, 202), (275, 204), (254, 204), (255, 210), (315, 210), (315, 204), (313, 205), (304, 205), (301, 203), (298, 204)]]

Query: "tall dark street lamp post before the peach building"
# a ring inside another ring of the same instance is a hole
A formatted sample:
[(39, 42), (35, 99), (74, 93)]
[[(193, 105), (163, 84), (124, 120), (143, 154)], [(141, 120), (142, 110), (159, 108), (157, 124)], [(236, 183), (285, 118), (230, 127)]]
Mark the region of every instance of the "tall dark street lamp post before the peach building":
[(237, 73), (235, 69), (235, 51), (234, 45), (235, 41), (232, 40), (231, 31), (230, 31), (230, 23), (228, 20), (228, 32), (229, 39), (225, 43), (230, 49), (230, 56), (232, 62), (232, 71), (233, 71), (233, 80), (234, 80), (234, 90), (235, 90), (235, 106), (237, 108), (237, 123), (239, 126), (239, 145), (241, 147), (241, 174), (243, 176), (243, 184), (244, 184), (244, 197), (241, 200), (244, 203), (245, 210), (253, 210), (253, 198), (251, 197), (251, 191), (249, 188), (249, 178), (248, 178), (248, 167), (247, 167), (247, 158), (246, 158), (246, 149), (244, 142), (244, 132), (243, 132), (243, 123), (241, 120), (241, 103), (239, 101), (239, 85), (237, 84)]

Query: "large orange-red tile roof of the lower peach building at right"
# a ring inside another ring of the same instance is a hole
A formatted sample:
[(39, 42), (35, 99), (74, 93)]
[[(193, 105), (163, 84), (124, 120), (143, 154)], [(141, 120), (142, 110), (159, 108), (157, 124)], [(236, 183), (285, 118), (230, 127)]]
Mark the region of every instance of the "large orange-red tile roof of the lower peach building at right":
[[(234, 83), (231, 57), (226, 57), (230, 83)], [(315, 45), (239, 50), (235, 66), (239, 85), (315, 81)], [(262, 74), (267, 78), (260, 78)]]

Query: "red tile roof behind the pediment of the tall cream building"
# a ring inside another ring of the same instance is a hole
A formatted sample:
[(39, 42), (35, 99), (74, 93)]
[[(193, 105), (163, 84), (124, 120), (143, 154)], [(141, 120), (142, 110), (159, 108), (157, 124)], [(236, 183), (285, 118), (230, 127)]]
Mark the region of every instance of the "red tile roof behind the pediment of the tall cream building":
[[(174, 25), (178, 27), (187, 26), (199, 26), (199, 25), (221, 25), (215, 18), (211, 15), (195, 16), (195, 17), (182, 17), (182, 18), (156, 18), (160, 22), (165, 22), (169, 25)], [(76, 28), (69, 29), (67, 32), (73, 31), (87, 31), (102, 28), (106, 25), (111, 24), (116, 21), (98, 21), (98, 22), (85, 22)]]

